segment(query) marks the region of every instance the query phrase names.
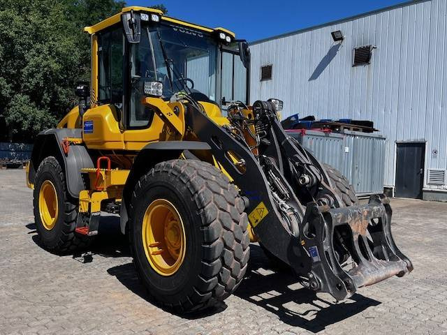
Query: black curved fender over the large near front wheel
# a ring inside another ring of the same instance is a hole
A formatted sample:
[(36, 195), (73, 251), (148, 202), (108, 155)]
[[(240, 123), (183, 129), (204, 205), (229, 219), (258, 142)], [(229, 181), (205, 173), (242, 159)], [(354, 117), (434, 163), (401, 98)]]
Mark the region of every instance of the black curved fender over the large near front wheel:
[(211, 147), (205, 142), (194, 141), (166, 141), (147, 144), (140, 150), (133, 162), (129, 177), (124, 186), (121, 209), (119, 212), (121, 231), (126, 233), (127, 221), (129, 221), (129, 203), (131, 201), (133, 188), (143, 174), (154, 168), (158, 163), (177, 159), (185, 150), (210, 150)]

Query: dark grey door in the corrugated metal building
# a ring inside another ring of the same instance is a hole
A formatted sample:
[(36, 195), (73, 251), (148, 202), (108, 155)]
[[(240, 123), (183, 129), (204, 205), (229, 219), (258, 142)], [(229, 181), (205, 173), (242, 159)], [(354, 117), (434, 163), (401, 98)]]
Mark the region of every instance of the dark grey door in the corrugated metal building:
[(397, 143), (397, 198), (422, 199), (424, 184), (425, 143)]

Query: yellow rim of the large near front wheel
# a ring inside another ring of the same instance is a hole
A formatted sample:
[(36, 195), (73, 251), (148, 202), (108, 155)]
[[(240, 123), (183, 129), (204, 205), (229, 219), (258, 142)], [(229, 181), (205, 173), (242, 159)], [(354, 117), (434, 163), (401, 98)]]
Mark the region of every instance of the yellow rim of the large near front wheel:
[(142, 221), (142, 245), (152, 269), (171, 276), (182, 265), (186, 250), (182, 218), (168, 200), (154, 200)]

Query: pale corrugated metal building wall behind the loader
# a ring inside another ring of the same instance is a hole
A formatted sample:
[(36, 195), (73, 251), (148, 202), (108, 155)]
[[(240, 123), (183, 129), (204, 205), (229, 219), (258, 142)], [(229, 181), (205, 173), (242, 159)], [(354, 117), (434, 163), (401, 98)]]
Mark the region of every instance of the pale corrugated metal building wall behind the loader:
[[(446, 14), (446, 0), (411, 1), (251, 43), (250, 101), (281, 99), (283, 118), (374, 121), (386, 137), (384, 186), (422, 172), (424, 198), (446, 200)], [(368, 45), (370, 63), (353, 66), (353, 50)], [(408, 171), (419, 158), (422, 170)]]

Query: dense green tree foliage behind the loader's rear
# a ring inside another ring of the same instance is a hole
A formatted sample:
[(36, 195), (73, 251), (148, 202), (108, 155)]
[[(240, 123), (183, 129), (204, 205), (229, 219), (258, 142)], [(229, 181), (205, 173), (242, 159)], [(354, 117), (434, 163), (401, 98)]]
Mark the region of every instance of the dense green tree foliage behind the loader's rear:
[(0, 140), (31, 141), (75, 105), (75, 83), (89, 80), (90, 44), (82, 29), (123, 6), (115, 0), (0, 0), (0, 120), (7, 133)]

